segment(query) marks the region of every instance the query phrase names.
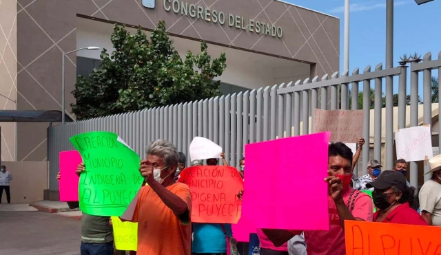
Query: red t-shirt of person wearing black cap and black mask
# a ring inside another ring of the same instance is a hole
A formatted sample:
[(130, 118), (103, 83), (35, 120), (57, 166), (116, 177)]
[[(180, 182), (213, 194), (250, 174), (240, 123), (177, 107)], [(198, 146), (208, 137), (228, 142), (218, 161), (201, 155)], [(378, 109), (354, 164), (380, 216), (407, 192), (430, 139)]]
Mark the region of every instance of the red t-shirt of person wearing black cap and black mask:
[[(380, 211), (381, 210), (378, 210), (373, 214), (373, 221), (377, 221)], [(393, 211), (387, 215), (386, 219), (381, 222), (407, 225), (427, 225), (427, 222), (422, 219), (421, 215), (418, 214), (416, 210), (413, 210), (409, 206), (409, 203), (403, 203), (401, 206), (393, 209)]]

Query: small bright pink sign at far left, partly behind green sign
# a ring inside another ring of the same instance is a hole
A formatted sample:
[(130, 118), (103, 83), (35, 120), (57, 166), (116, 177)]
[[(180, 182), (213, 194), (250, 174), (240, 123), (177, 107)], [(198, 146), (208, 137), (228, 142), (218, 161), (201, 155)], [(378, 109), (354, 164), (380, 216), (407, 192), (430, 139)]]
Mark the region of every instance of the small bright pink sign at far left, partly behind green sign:
[(78, 201), (78, 182), (76, 167), (83, 162), (78, 151), (61, 151), (60, 153), (60, 201)]

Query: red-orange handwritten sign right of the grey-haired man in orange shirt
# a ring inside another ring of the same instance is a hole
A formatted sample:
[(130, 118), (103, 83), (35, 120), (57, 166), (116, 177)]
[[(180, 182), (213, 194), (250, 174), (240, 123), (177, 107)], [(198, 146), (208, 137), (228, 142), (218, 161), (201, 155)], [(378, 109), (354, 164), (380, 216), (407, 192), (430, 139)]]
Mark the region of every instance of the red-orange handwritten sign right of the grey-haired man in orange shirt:
[(192, 222), (237, 223), (242, 201), (237, 194), (243, 180), (231, 166), (192, 166), (185, 168), (179, 181), (192, 193)]

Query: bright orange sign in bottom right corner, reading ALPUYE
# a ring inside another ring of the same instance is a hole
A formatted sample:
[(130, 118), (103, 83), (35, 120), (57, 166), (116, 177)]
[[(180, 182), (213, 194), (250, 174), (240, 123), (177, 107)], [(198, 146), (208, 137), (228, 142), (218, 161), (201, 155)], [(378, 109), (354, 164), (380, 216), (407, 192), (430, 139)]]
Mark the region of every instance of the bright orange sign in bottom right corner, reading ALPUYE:
[(347, 255), (441, 255), (441, 228), (345, 221)]

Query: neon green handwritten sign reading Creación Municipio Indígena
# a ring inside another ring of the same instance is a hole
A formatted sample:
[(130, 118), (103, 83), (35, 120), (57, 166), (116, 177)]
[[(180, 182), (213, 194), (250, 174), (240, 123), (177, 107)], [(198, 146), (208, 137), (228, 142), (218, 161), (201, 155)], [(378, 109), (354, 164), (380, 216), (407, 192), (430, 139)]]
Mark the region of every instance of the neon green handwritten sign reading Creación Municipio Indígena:
[(139, 156), (115, 133), (82, 133), (70, 142), (85, 165), (79, 181), (81, 211), (121, 216), (143, 183)]

